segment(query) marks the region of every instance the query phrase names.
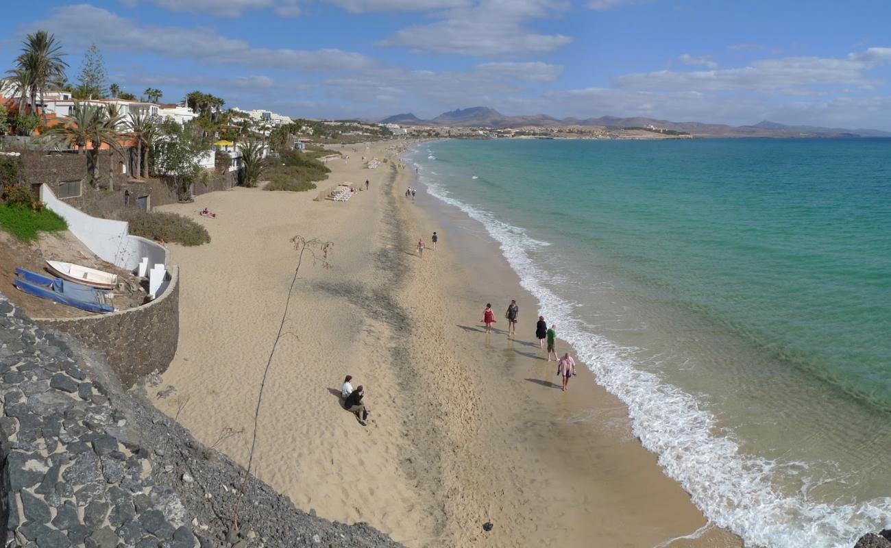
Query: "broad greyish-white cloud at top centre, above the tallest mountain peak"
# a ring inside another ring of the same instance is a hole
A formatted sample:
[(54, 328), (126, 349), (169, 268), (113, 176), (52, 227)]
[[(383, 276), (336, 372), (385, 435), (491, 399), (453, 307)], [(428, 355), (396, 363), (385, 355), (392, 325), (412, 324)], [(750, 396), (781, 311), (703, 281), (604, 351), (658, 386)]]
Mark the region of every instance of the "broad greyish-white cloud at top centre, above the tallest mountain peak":
[(552, 52), (572, 38), (538, 34), (524, 23), (567, 9), (568, 4), (556, 0), (481, 0), (472, 7), (440, 13), (444, 20), (400, 29), (379, 45), (476, 57)]

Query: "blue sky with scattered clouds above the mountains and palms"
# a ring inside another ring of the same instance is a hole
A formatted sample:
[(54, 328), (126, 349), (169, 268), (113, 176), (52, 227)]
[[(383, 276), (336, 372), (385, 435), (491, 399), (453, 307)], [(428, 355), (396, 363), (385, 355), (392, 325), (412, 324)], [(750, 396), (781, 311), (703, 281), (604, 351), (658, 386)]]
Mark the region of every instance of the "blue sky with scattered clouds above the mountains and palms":
[(306, 118), (643, 116), (891, 131), (887, 0), (8, 2), (0, 67), (52, 32), (77, 81)]

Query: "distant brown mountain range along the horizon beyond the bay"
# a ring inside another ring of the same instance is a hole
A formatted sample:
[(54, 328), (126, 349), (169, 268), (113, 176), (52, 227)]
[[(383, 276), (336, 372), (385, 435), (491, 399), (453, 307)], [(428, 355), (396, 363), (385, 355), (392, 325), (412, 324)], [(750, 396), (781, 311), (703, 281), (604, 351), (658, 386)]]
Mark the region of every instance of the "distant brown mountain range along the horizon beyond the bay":
[(506, 116), (489, 107), (449, 110), (434, 119), (419, 119), (411, 112), (396, 114), (379, 120), (381, 124), (400, 126), (448, 126), (448, 127), (648, 127), (654, 126), (691, 135), (709, 137), (798, 137), (798, 136), (848, 136), (848, 137), (891, 137), (891, 133), (878, 129), (844, 129), (839, 127), (786, 126), (776, 122), (762, 121), (752, 126), (728, 126), (726, 124), (704, 124), (701, 122), (672, 122), (652, 118), (564, 118), (556, 119), (546, 114), (530, 116)]

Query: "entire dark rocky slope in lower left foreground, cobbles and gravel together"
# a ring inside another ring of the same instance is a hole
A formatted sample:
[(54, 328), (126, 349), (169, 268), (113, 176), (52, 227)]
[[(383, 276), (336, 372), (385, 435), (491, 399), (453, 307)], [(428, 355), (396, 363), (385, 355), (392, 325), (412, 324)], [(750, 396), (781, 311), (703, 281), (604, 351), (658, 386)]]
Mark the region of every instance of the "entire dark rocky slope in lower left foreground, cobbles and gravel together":
[(102, 355), (2, 295), (0, 375), (4, 546), (399, 546), (245, 485), (241, 466), (121, 389)]

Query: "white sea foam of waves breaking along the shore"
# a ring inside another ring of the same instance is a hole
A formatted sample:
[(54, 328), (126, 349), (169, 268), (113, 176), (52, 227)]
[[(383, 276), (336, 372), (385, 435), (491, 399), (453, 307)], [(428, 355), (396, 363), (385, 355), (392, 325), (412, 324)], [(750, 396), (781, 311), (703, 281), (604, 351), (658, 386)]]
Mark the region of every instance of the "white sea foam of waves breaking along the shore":
[(634, 435), (658, 454), (666, 475), (681, 484), (712, 524), (731, 530), (747, 545), (777, 548), (850, 548), (863, 533), (891, 525), (891, 497), (830, 504), (810, 500), (805, 490), (781, 494), (774, 479), (806, 474), (806, 465), (740, 453), (732, 432), (720, 429), (695, 397), (635, 366), (638, 349), (617, 345), (572, 315), (572, 303), (547, 286), (559, 273), (544, 271), (528, 254), (548, 242), (531, 239), (523, 228), (455, 199), (429, 176), (420, 180), (430, 195), (461, 209), (499, 242), (520, 285), (538, 300), (541, 314), (555, 319), (560, 338), (572, 345), (598, 383), (628, 406)]

